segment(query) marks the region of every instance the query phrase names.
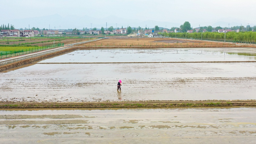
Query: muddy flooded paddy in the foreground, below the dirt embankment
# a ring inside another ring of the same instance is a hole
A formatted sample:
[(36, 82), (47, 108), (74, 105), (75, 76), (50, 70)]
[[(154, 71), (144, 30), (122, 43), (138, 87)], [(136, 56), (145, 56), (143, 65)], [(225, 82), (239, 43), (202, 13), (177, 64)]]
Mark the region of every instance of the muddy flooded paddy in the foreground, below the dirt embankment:
[(255, 108), (1, 110), (2, 143), (256, 143)]

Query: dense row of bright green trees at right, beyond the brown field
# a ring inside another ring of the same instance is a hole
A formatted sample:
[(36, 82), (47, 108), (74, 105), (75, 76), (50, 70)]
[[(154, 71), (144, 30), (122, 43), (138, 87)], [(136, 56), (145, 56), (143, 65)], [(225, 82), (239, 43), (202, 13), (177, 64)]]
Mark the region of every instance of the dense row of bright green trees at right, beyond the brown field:
[[(225, 33), (218, 32), (204, 32), (204, 33), (160, 33), (162, 36), (187, 38), (187, 39), (203, 39), (212, 41), (224, 41)], [(236, 43), (256, 43), (256, 32), (227, 32), (226, 42)]]

